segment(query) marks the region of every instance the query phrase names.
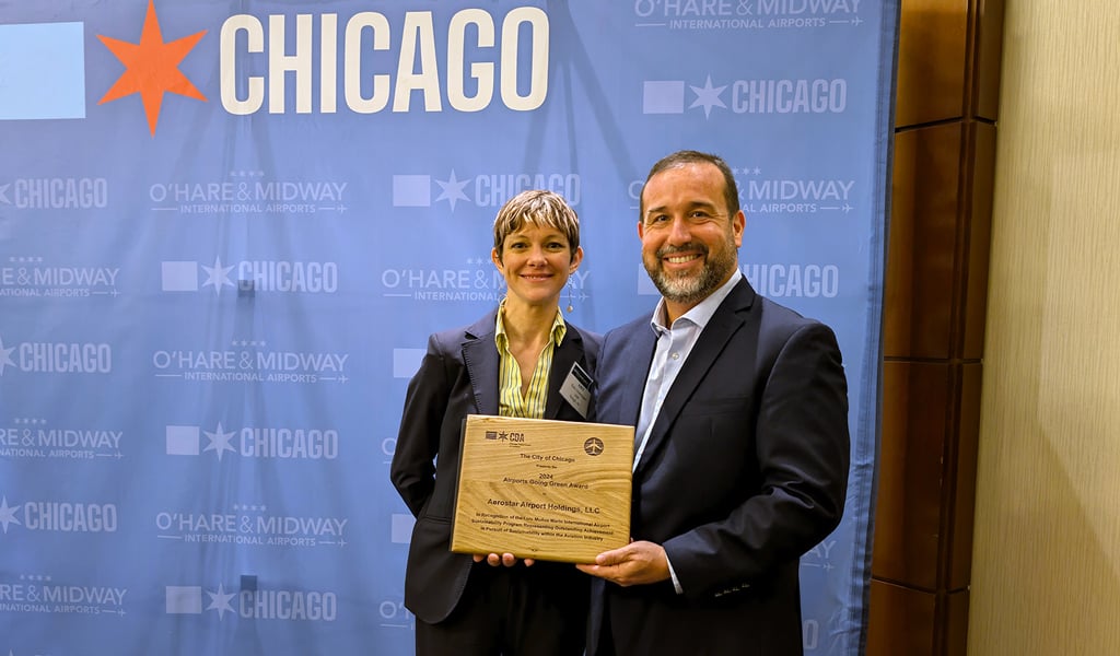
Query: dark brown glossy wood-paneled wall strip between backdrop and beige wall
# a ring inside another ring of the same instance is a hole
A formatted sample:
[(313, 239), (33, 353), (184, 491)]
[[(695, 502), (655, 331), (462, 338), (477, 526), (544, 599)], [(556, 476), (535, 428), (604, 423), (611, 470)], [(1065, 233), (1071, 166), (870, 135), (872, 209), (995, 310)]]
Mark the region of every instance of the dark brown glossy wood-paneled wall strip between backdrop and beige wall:
[(902, 0), (869, 656), (968, 639), (1004, 0)]

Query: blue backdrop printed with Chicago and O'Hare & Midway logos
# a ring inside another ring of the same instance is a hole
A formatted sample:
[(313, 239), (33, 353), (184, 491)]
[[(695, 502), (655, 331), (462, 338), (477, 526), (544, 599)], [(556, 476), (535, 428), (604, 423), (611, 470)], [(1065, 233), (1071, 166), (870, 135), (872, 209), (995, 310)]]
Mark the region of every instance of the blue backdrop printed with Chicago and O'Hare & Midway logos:
[(427, 336), (494, 307), (497, 208), (578, 210), (561, 303), (656, 302), (637, 195), (734, 167), (743, 271), (833, 326), (844, 522), (804, 645), (859, 654), (897, 0), (0, 6), (0, 654), (412, 653), (389, 482)]

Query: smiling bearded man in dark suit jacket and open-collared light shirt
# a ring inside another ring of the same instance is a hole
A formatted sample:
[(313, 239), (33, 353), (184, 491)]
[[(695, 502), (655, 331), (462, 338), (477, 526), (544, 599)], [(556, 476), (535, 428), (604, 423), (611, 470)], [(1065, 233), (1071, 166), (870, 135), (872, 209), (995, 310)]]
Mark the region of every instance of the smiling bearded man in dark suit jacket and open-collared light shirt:
[(799, 559), (843, 512), (847, 383), (832, 330), (739, 272), (745, 223), (716, 156), (670, 154), (642, 189), (662, 299), (603, 344), (596, 421), (636, 425), (633, 542), (577, 565), (598, 577), (588, 656), (802, 654)]

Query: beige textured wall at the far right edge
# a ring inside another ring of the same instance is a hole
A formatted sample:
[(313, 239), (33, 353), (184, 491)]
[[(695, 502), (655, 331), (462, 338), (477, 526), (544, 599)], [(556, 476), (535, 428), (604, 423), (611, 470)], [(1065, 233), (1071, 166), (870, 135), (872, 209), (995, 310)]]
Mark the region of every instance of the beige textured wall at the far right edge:
[(1007, 2), (969, 656), (1120, 654), (1118, 8)]

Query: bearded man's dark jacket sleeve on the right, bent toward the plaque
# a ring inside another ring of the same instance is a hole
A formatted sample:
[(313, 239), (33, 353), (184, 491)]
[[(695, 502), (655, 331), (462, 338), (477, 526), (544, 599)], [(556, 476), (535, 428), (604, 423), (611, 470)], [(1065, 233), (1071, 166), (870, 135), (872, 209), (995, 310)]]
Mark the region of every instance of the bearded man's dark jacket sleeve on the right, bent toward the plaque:
[[(760, 345), (760, 352), (767, 348), (776, 356), (756, 390), (759, 485), (745, 490), (726, 518), (664, 543), (688, 596), (736, 591), (790, 566), (827, 537), (843, 513), (850, 438), (836, 336), (814, 322), (788, 334), (784, 344)], [(748, 439), (749, 429), (744, 430)]]

